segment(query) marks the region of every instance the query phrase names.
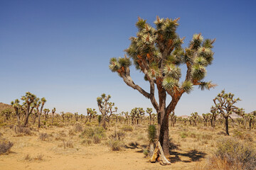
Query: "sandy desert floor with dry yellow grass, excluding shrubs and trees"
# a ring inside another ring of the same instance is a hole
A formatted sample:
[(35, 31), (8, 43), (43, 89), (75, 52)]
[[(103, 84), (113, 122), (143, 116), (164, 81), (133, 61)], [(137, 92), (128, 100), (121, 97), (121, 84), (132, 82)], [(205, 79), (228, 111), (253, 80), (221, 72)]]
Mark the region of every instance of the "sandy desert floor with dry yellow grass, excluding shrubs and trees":
[[(97, 127), (96, 122), (88, 125), (82, 125), (82, 128)], [(81, 132), (75, 132), (75, 125), (35, 129), (32, 135), (17, 135), (14, 128), (2, 127), (2, 138), (14, 142), (14, 147), (9, 154), (0, 155), (0, 169), (206, 169), (208, 157), (216, 148), (216, 140), (224, 136), (220, 133), (223, 131), (220, 125), (215, 130), (203, 125), (177, 124), (170, 127), (172, 146), (178, 148), (172, 149), (170, 157), (167, 157), (171, 165), (161, 166), (144, 157), (143, 150), (148, 145), (147, 125), (133, 125), (132, 132), (125, 132), (124, 147), (120, 151), (112, 151), (107, 145), (109, 135), (115, 130), (124, 132), (123, 127), (119, 123), (110, 123), (106, 137), (99, 144), (87, 144), (88, 139), (81, 138)], [(250, 142), (255, 147), (255, 130), (230, 128), (230, 135), (235, 134), (238, 134), (238, 140)], [(248, 134), (250, 140), (247, 140)], [(137, 146), (132, 143), (137, 143)], [(223, 162), (217, 163), (223, 167)]]

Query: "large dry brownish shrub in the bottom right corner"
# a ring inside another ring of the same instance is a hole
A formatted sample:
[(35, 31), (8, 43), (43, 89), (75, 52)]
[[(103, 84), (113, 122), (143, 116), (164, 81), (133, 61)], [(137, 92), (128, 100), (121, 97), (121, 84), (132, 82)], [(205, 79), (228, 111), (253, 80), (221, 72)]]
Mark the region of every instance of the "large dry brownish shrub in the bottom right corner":
[(248, 170), (256, 169), (255, 149), (233, 138), (226, 137), (219, 140), (214, 155), (230, 166)]

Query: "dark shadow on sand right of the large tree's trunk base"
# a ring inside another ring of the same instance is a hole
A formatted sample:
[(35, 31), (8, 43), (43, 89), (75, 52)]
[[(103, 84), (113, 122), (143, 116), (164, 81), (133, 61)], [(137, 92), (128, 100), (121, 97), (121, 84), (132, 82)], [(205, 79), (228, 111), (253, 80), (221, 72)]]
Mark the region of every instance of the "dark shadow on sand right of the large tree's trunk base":
[[(203, 159), (206, 157), (206, 153), (204, 152), (198, 152), (196, 149), (193, 149), (189, 152), (186, 153), (178, 153), (178, 152), (170, 152), (171, 157), (169, 158), (171, 163), (175, 163), (175, 162), (197, 162), (200, 159)], [(172, 156), (175, 157), (172, 157)], [(189, 157), (191, 160), (190, 161), (182, 161), (181, 158), (179, 156), (182, 157)]]

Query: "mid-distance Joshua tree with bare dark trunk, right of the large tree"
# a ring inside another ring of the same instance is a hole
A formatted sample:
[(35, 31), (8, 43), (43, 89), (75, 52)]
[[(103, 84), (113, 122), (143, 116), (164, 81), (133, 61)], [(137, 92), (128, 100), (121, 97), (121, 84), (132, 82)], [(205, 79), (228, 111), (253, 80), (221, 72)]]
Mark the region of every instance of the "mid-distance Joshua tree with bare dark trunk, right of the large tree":
[(213, 108), (218, 109), (221, 115), (223, 115), (223, 118), (225, 119), (225, 131), (226, 134), (229, 135), (228, 132), (228, 118), (230, 118), (230, 115), (232, 113), (239, 114), (241, 112), (241, 109), (234, 106), (235, 103), (238, 101), (241, 101), (240, 98), (234, 98), (234, 94), (228, 93), (225, 94), (225, 90), (221, 91), (218, 96), (213, 98), (213, 103), (215, 106)]

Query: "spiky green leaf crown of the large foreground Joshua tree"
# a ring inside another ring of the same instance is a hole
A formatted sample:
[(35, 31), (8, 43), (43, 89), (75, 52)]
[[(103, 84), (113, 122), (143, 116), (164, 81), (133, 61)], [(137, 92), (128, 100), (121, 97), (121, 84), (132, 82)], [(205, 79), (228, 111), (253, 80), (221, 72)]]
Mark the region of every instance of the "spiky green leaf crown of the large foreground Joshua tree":
[[(127, 55), (110, 59), (110, 69), (118, 72), (120, 77), (129, 75), (131, 60), (139, 71), (145, 74), (146, 81), (161, 81), (161, 85), (169, 94), (190, 93), (194, 85), (199, 88), (214, 87), (206, 77), (206, 67), (213, 61), (213, 42), (203, 39), (201, 34), (193, 35), (188, 47), (182, 47), (183, 38), (176, 33), (178, 19), (156, 18), (155, 28), (146, 20), (139, 18), (136, 23), (137, 36), (130, 38), (131, 45), (125, 50)], [(186, 80), (180, 83), (180, 64), (186, 64), (188, 72)]]

